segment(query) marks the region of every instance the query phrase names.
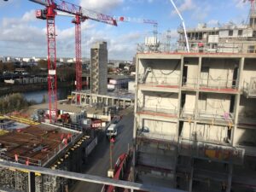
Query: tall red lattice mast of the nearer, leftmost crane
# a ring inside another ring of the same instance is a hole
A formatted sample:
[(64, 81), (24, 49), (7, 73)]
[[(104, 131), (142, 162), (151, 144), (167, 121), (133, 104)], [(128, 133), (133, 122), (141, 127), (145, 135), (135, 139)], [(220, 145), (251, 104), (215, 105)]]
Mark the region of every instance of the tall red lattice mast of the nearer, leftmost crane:
[(48, 96), (49, 120), (56, 119), (57, 114), (57, 75), (55, 42), (55, 5), (47, 7), (47, 41), (48, 41)]

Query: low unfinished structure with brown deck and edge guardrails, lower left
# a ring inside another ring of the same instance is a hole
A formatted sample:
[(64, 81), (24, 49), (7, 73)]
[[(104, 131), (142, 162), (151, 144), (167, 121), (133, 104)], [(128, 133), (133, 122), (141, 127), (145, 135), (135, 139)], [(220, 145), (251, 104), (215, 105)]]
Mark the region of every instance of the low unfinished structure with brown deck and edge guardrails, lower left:
[[(81, 172), (84, 151), (88, 150), (91, 140), (80, 131), (3, 116), (0, 117), (0, 141), (3, 162)], [(36, 192), (67, 191), (72, 185), (73, 181), (61, 177), (0, 169), (0, 191), (25, 192), (30, 191), (31, 186)]]

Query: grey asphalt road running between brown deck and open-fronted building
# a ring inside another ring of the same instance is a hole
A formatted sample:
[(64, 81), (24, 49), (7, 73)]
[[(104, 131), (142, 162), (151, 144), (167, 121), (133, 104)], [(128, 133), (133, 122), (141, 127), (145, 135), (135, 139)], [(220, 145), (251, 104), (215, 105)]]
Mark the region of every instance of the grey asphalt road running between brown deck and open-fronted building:
[[(133, 118), (133, 113), (129, 113), (124, 115), (123, 119), (117, 124), (118, 136), (115, 138), (113, 146), (113, 165), (120, 154), (127, 152), (128, 143), (130, 146), (132, 144)], [(84, 166), (84, 173), (107, 177), (109, 167), (109, 140), (104, 137), (90, 154), (89, 160)], [(101, 189), (101, 184), (79, 182), (75, 184), (72, 191), (99, 192)]]

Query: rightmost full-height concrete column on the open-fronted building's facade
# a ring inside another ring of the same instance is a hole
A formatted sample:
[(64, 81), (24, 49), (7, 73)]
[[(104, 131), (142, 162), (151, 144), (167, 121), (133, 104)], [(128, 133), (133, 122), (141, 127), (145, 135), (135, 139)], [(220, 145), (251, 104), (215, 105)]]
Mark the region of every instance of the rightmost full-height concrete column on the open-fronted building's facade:
[[(240, 60), (240, 64), (239, 64), (239, 70), (238, 70), (238, 90), (240, 91), (242, 89), (242, 82), (241, 82), (241, 78), (242, 78), (242, 71), (243, 71), (243, 67), (244, 67), (244, 57), (241, 58)], [(236, 137), (236, 129), (237, 129), (237, 124), (238, 124), (238, 111), (239, 111), (239, 104), (240, 104), (240, 92), (238, 92), (236, 94), (236, 100), (235, 100), (235, 111), (234, 111), (234, 127), (231, 133), (231, 144), (232, 146), (235, 145), (235, 137)]]

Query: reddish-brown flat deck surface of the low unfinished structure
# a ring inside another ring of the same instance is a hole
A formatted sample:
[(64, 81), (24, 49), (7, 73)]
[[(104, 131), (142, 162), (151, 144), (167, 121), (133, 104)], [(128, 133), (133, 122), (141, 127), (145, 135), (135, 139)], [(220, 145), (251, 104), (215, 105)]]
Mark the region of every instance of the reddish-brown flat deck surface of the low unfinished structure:
[(29, 160), (34, 166), (40, 166), (48, 154), (64, 145), (62, 137), (68, 133), (72, 135), (69, 131), (48, 125), (30, 125), (24, 129), (7, 132), (0, 136), (2, 148), (6, 148), (1, 155), (14, 161), (17, 154), (19, 160)]

